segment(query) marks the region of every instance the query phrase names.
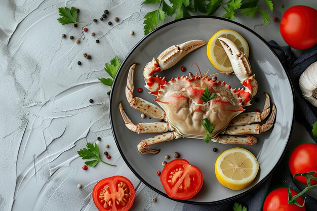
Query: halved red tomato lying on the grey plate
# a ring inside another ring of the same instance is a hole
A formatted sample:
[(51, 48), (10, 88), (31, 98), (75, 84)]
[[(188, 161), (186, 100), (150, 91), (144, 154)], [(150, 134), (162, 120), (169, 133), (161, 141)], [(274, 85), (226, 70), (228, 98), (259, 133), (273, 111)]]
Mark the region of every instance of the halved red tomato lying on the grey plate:
[(161, 182), (171, 198), (188, 199), (196, 195), (203, 186), (203, 175), (199, 168), (185, 159), (168, 162), (161, 174)]

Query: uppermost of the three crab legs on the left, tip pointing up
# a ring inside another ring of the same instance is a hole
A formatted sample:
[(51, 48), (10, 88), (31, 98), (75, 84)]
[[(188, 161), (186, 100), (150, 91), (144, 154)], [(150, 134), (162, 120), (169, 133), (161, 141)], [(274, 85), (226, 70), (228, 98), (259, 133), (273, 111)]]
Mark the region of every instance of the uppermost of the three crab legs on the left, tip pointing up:
[(143, 100), (142, 98), (138, 97), (133, 97), (133, 73), (134, 73), (134, 68), (137, 64), (134, 63), (128, 73), (128, 78), (127, 78), (127, 85), (126, 85), (126, 97), (128, 102), (130, 103), (130, 106), (132, 108), (135, 108), (136, 110), (152, 117), (155, 119), (165, 119), (166, 113), (163, 111), (162, 108), (160, 108), (157, 105), (154, 105), (146, 100)]

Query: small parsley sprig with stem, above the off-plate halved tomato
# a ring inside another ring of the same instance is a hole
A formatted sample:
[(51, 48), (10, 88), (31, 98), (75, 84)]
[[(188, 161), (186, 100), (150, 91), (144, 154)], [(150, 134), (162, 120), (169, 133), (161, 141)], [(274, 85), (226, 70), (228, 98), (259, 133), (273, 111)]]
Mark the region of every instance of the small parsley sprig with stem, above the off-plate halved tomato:
[(95, 167), (95, 165), (97, 165), (97, 163), (99, 161), (101, 161), (101, 162), (103, 162), (103, 163), (105, 163), (107, 165), (116, 166), (116, 165), (113, 165), (113, 164), (110, 164), (110, 163), (107, 163), (107, 162), (101, 160), (100, 154), (99, 154), (99, 148), (98, 148), (96, 143), (95, 143), (95, 145), (93, 145), (92, 143), (88, 142), (87, 143), (87, 148), (83, 148), (83, 149), (77, 151), (77, 153), (84, 160), (92, 159), (92, 160), (89, 160), (89, 161), (85, 162), (85, 164), (88, 165), (88, 166)]

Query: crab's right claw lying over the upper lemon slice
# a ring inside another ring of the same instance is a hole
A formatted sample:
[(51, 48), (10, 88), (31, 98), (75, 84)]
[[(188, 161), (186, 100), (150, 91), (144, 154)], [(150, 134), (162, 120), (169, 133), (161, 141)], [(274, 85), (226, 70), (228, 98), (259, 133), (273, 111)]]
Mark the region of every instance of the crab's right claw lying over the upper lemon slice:
[(252, 97), (255, 96), (258, 92), (258, 83), (252, 75), (249, 60), (230, 39), (219, 37), (218, 40), (231, 62), (236, 77), (239, 78), (246, 91)]

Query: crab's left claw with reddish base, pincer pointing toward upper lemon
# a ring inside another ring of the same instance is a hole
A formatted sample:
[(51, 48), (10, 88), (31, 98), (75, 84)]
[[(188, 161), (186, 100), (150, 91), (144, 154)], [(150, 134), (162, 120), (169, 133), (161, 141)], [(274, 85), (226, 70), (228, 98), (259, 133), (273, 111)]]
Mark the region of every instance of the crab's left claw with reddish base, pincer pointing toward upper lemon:
[(199, 49), (206, 44), (203, 40), (190, 40), (183, 44), (171, 46), (163, 51), (157, 59), (153, 58), (144, 68), (143, 75), (146, 82), (146, 88), (150, 90), (150, 94), (157, 95), (161, 85), (164, 85), (165, 78), (153, 77), (155, 72), (162, 72), (173, 67), (179, 60), (190, 52)]

